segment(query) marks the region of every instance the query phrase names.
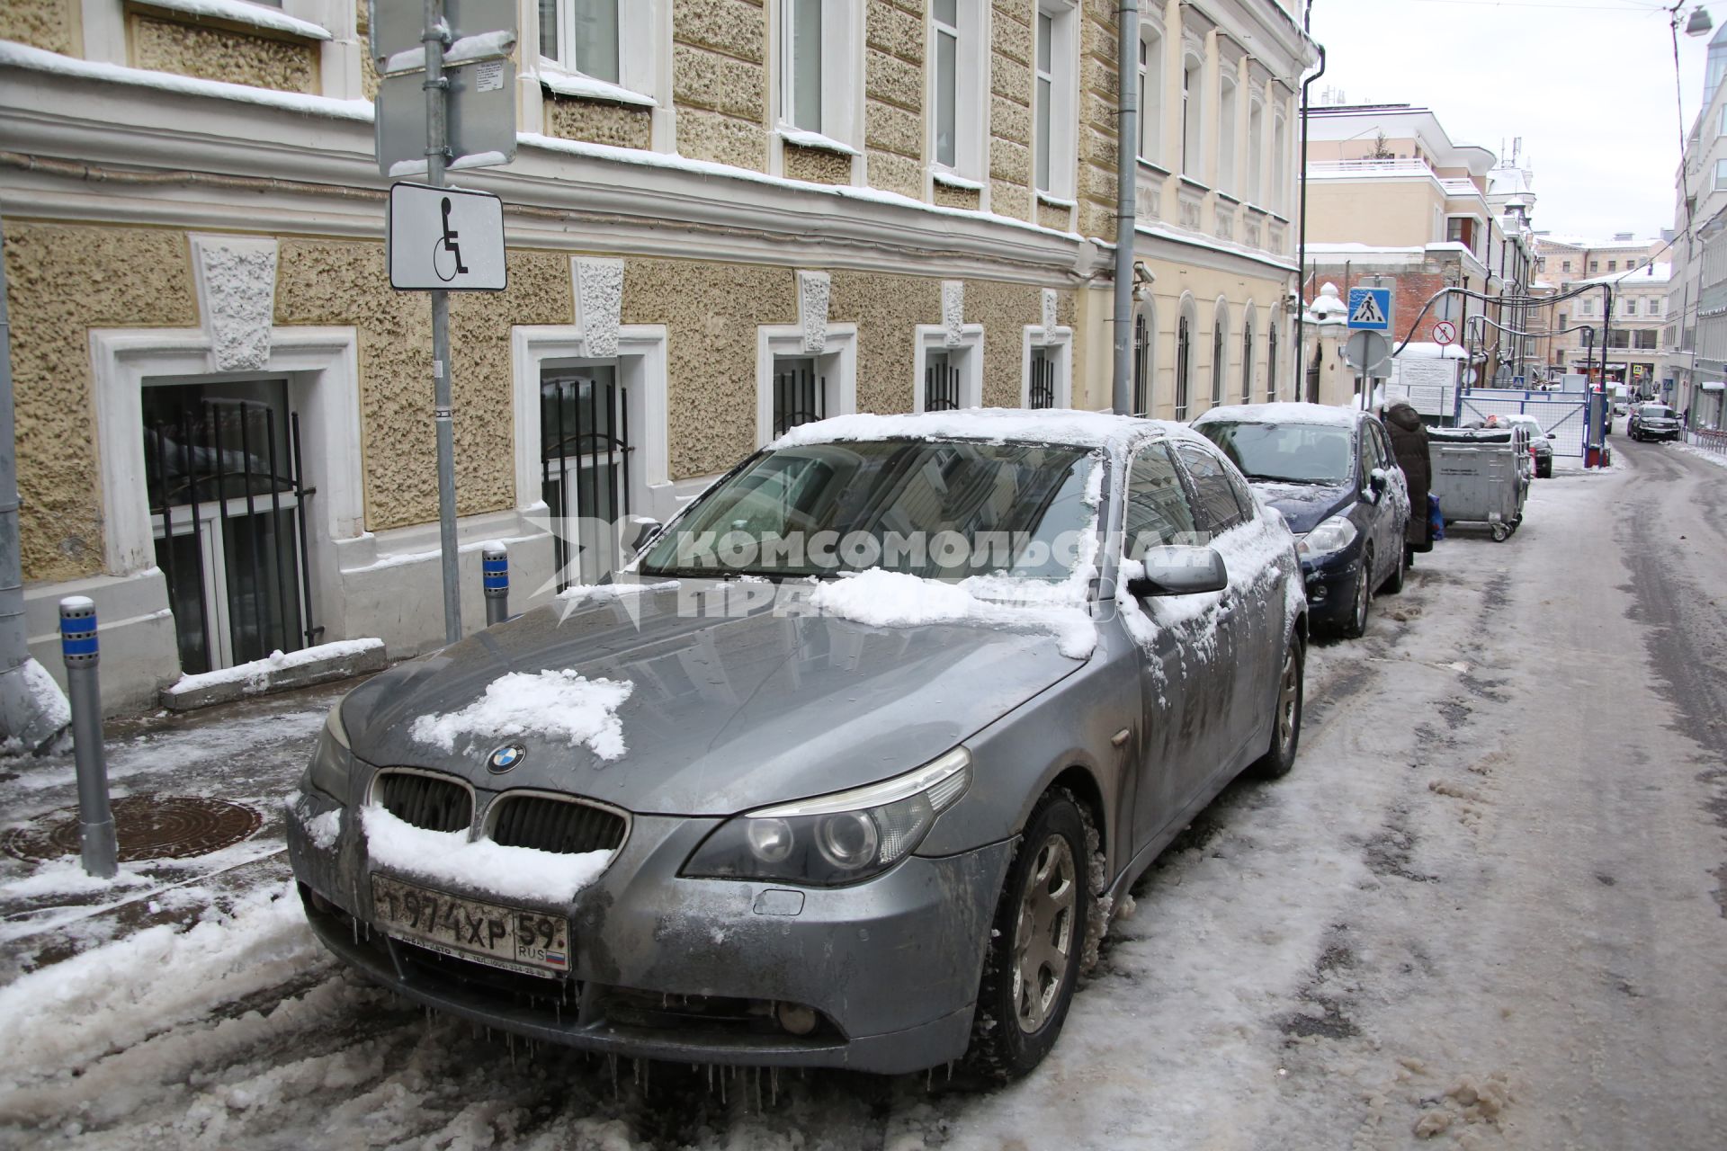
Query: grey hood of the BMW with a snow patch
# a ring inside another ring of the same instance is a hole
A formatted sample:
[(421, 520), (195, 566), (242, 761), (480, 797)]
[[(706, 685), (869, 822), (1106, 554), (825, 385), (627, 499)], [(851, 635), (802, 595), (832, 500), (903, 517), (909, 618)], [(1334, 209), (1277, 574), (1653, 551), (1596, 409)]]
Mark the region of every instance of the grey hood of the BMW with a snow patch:
[[(560, 621), (563, 607), (535, 609), (356, 689), (342, 704), (354, 754), (637, 813), (732, 815), (917, 768), (1083, 666), (1034, 630), (877, 628), (770, 607), (689, 618), (675, 585), (584, 604)], [(613, 706), (617, 739), (572, 745), (547, 730), (475, 730), (446, 749), (427, 739), (428, 723), (416, 737), (416, 720), (451, 716), (511, 673), (627, 683), (622, 702), (617, 687), (601, 701)], [(527, 754), (490, 773), (487, 756), (509, 742)]]

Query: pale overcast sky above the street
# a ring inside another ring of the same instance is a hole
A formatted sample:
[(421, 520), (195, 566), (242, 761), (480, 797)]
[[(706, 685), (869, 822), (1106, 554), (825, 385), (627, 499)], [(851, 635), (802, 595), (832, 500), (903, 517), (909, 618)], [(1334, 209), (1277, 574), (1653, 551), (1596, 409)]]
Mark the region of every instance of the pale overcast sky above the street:
[[(1703, 3), (1717, 28), (1727, 21), (1727, 0)], [(1673, 41), (1654, 0), (1313, 0), (1313, 36), (1326, 48), (1316, 105), (1325, 88), (1349, 104), (1427, 105), (1454, 142), (1497, 155), (1521, 136), (1537, 230), (1642, 238), (1673, 226)], [(1706, 45), (1680, 29), (1687, 131)]]

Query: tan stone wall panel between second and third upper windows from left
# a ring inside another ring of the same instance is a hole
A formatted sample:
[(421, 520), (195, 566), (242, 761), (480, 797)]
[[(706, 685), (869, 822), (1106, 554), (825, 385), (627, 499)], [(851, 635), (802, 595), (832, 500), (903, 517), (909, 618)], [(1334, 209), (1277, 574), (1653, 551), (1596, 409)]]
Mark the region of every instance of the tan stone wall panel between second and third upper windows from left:
[[(924, 12), (865, 0), (864, 142), (869, 185), (924, 198)], [(788, 171), (789, 174), (789, 171)]]

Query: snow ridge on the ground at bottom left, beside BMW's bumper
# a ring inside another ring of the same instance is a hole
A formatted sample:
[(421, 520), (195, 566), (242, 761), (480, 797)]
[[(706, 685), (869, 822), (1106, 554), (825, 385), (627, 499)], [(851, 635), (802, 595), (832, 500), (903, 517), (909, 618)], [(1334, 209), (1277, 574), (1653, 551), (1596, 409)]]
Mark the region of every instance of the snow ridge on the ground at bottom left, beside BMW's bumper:
[[(149, 927), (0, 987), (0, 1113), (21, 1082), (280, 985), (319, 958), (292, 884), (207, 911), (190, 930)], [(164, 978), (171, 972), (171, 978)]]

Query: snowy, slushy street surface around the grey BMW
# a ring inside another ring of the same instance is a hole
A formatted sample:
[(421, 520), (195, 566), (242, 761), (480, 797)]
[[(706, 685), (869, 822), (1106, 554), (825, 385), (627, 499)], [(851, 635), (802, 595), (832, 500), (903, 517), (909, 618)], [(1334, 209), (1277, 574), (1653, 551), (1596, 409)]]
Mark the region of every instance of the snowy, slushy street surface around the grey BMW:
[[(0, 987), (0, 1142), (1718, 1148), (1727, 475), (1615, 449), (1537, 483), (1509, 542), (1423, 557), (1366, 638), (1316, 647), (1295, 771), (1233, 785), (1140, 882), (1022, 1084), (710, 1077), (475, 1037), (319, 953), (266, 825), (249, 882), (188, 870), (157, 927), (48, 921), (83, 951)], [(238, 742), (123, 745), (116, 773), (257, 797), (268, 764), (297, 773), (318, 702)], [(52, 771), (3, 787), (50, 809)], [(9, 908), (31, 880), (0, 866)], [(43, 921), (0, 932), (16, 968)]]

